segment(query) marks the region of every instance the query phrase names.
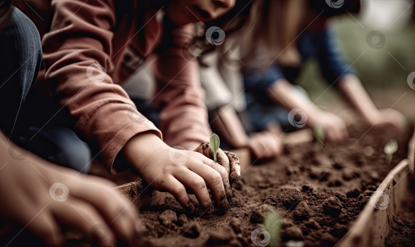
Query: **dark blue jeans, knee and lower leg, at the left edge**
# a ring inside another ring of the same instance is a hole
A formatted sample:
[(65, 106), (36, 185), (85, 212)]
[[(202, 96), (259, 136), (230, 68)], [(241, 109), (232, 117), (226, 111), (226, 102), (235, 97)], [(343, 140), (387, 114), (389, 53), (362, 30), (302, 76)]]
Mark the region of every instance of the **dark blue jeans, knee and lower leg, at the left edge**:
[[(30, 122), (27, 111), (23, 110), (24, 101), (36, 80), (41, 59), (40, 36), (35, 25), (24, 13), (13, 8), (10, 22), (0, 31), (0, 129), (40, 157), (88, 172), (91, 153), (72, 129), (24, 125)], [(36, 106), (31, 110), (41, 112), (45, 108)]]

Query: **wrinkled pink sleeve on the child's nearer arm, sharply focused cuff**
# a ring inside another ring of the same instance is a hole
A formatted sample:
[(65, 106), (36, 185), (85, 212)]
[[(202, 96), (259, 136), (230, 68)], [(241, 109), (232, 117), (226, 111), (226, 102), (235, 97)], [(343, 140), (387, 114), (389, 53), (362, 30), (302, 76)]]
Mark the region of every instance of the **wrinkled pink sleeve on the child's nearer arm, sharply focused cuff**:
[(46, 81), (59, 104), (75, 118), (78, 135), (107, 169), (134, 135), (161, 132), (143, 117), (128, 94), (114, 84), (112, 1), (52, 0), (51, 31), (45, 34)]

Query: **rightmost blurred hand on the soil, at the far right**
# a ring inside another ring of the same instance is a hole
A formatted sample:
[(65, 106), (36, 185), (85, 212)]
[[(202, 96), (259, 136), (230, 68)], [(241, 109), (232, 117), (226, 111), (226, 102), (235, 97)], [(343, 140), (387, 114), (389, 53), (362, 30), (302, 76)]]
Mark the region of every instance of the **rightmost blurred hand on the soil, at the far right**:
[(381, 109), (379, 111), (379, 117), (373, 119), (368, 124), (396, 136), (405, 131), (406, 120), (405, 116), (397, 110)]

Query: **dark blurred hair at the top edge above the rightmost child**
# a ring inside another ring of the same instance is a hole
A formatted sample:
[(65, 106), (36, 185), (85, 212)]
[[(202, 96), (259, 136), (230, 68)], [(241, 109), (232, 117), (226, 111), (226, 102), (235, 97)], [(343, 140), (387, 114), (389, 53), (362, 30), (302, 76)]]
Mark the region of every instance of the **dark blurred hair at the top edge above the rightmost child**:
[(358, 13), (360, 0), (309, 0), (312, 9), (325, 16), (340, 15), (347, 12)]

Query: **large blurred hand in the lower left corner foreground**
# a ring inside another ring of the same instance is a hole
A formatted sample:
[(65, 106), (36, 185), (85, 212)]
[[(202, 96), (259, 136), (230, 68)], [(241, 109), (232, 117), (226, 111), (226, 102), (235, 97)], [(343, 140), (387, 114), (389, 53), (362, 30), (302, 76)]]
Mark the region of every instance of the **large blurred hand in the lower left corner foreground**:
[(26, 226), (45, 244), (62, 246), (65, 229), (99, 246), (115, 245), (117, 238), (137, 242), (136, 212), (108, 180), (78, 174), (32, 154), (15, 160), (6, 151), (2, 166), (1, 217)]

